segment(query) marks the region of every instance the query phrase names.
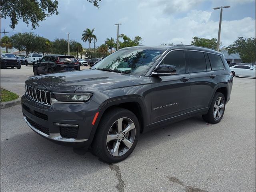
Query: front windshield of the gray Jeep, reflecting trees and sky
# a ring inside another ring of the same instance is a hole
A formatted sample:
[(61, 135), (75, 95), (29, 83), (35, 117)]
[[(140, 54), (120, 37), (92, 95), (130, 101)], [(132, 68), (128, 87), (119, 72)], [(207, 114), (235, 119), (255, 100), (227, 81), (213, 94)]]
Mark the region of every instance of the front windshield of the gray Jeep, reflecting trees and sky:
[(95, 64), (92, 69), (144, 76), (163, 50), (121, 49)]

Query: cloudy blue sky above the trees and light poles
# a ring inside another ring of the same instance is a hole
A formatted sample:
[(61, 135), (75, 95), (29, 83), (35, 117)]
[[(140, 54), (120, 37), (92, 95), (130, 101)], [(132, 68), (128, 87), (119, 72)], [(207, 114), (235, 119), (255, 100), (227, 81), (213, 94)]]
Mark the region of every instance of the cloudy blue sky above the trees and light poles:
[(255, 37), (255, 0), (102, 0), (99, 5), (98, 9), (86, 0), (59, 0), (59, 14), (40, 22), (36, 30), (22, 21), (12, 30), (9, 19), (1, 19), (0, 29), (8, 35), (32, 31), (50, 40), (67, 38), (70, 32), (70, 39), (88, 48), (89, 43), (81, 40), (83, 30), (95, 28), (100, 46), (106, 38), (116, 39), (114, 24), (122, 23), (119, 33), (139, 35), (143, 45), (190, 44), (193, 36), (217, 38), (220, 10), (213, 8), (229, 5), (222, 16), (224, 46), (238, 36)]

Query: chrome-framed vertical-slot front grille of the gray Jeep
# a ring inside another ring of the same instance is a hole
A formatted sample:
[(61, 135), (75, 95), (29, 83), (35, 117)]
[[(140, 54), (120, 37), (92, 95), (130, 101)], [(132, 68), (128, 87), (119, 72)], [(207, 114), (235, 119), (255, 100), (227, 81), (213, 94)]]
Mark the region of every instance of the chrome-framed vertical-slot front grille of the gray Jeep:
[(26, 85), (26, 94), (29, 98), (42, 103), (50, 105), (52, 103), (51, 100), (51, 92), (37, 89), (31, 86)]

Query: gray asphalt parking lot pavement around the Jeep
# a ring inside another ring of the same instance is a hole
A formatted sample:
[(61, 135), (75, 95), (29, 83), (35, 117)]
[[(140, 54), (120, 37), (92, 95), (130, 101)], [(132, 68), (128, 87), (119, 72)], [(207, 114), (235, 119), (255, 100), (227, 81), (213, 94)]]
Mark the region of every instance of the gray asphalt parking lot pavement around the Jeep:
[[(32, 75), (32, 66), (1, 70), (1, 87), (21, 96)], [(255, 100), (255, 78), (234, 78), (220, 123), (196, 116), (141, 134), (117, 164), (42, 138), (26, 125), (20, 105), (2, 109), (1, 192), (253, 192)]]

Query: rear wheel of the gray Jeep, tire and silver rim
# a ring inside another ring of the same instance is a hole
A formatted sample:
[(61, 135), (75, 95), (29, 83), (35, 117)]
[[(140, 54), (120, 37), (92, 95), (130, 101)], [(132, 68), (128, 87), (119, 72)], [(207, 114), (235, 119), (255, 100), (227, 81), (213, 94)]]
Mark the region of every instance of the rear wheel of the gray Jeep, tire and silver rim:
[(220, 122), (220, 120), (222, 119), (225, 112), (225, 107), (226, 107), (225, 96), (220, 92), (216, 92), (212, 99), (212, 103), (210, 105), (208, 113), (205, 115), (202, 115), (202, 117), (206, 122), (216, 124)]

